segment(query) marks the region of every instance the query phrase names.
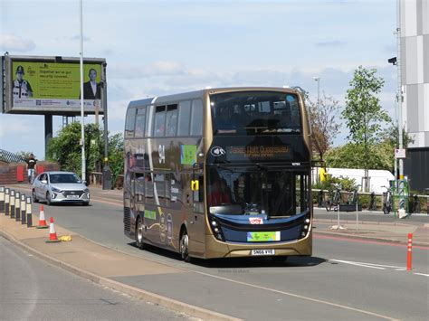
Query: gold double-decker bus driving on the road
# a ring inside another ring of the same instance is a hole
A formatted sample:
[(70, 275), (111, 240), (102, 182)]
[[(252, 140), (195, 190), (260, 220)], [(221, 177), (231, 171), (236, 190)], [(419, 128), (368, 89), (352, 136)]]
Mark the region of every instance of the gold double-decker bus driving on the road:
[(297, 90), (131, 101), (124, 233), (190, 258), (311, 255), (310, 126)]

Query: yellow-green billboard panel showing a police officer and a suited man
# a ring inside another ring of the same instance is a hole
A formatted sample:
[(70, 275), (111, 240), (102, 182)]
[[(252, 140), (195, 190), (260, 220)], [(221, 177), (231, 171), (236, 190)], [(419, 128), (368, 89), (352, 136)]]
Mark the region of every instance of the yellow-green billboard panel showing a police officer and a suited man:
[[(3, 57), (4, 112), (12, 114), (80, 115), (79, 58)], [(104, 59), (83, 61), (85, 114), (102, 113), (105, 99)]]

